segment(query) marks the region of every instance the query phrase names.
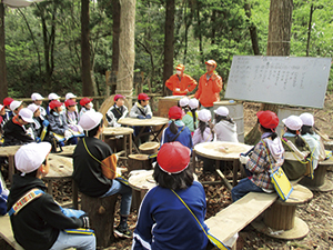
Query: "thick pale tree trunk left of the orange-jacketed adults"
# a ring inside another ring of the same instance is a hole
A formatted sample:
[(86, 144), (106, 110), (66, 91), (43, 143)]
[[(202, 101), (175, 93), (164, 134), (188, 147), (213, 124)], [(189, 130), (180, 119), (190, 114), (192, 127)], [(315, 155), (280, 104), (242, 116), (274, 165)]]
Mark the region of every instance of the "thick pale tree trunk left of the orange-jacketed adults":
[[(120, 37), (119, 37), (119, 66), (117, 74), (117, 93), (132, 97), (133, 69), (135, 60), (134, 31), (135, 31), (135, 0), (120, 0)], [(130, 107), (132, 101), (130, 101)]]

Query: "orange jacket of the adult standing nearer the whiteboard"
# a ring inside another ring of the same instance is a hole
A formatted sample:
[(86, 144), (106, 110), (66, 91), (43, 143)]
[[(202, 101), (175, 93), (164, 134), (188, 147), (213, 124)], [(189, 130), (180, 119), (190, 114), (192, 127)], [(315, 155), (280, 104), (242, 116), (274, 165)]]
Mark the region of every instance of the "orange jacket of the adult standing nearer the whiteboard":
[(222, 78), (216, 74), (215, 80), (212, 78), (206, 80), (206, 73), (202, 74), (199, 80), (199, 88), (194, 94), (203, 107), (213, 107), (215, 101), (220, 101), (220, 92), (222, 90)]

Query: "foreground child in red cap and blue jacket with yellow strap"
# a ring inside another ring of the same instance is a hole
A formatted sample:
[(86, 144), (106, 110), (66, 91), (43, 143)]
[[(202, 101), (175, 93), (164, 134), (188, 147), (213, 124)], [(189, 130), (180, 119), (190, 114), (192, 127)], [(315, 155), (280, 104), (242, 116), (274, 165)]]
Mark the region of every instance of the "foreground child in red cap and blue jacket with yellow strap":
[(161, 147), (153, 173), (158, 186), (142, 200), (132, 249), (206, 249), (205, 193), (189, 168), (190, 154), (178, 141)]

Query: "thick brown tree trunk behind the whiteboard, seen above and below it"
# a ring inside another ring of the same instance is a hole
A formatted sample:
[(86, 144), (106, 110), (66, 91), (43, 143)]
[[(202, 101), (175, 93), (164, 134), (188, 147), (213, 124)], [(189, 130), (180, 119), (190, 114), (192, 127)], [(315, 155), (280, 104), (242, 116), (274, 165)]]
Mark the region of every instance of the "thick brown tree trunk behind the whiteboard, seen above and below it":
[[(268, 56), (289, 56), (293, 13), (293, 0), (271, 0)], [(261, 110), (278, 113), (276, 104), (262, 103)], [(260, 140), (258, 123), (245, 137), (246, 144), (255, 144)]]

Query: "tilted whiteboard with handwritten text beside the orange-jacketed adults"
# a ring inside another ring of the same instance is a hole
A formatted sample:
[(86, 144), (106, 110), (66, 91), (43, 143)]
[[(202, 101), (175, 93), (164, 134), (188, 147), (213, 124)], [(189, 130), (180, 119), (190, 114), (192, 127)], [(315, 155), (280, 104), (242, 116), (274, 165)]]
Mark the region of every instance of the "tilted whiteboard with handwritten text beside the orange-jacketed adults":
[(323, 108), (331, 58), (234, 56), (226, 99)]

